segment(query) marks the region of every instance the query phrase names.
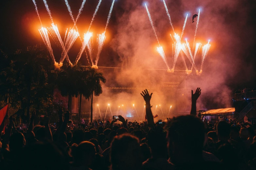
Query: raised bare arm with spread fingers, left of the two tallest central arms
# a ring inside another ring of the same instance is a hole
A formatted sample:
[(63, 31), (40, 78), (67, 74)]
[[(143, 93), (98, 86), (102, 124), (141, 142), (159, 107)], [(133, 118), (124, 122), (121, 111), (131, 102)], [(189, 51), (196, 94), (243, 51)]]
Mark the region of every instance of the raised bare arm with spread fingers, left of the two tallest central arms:
[[(143, 94), (142, 94), (143, 93)], [(151, 105), (150, 105), (150, 99), (153, 93), (149, 95), (147, 89), (142, 92), (141, 95), (143, 96), (145, 102), (146, 102), (146, 118), (147, 118), (147, 123), (149, 126), (154, 125), (154, 118), (153, 114), (151, 111)]]

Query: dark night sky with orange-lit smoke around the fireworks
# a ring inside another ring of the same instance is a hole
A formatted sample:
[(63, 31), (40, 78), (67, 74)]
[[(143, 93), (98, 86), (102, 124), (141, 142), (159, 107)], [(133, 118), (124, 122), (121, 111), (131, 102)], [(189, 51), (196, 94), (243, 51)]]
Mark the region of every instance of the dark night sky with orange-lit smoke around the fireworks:
[[(61, 36), (64, 37), (65, 30), (73, 26), (65, 1), (48, 0), (47, 2), (52, 12), (53, 20), (58, 25)], [(94, 35), (103, 32), (111, 2), (112, 0), (102, 0), (91, 29)], [(162, 0), (148, 0), (148, 2), (160, 41), (165, 44), (171, 42), (168, 33), (171, 29)], [(36, 0), (36, 3), (43, 26), (49, 27), (51, 23), (43, 0)], [(74, 17), (77, 16), (81, 3), (82, 0), (69, 0)], [(97, 3), (97, 0), (86, 1), (77, 22), (79, 32), (84, 33), (88, 29)], [(117, 0), (115, 2), (99, 66), (121, 66), (121, 61), (127, 56), (134, 55), (138, 58), (138, 55), (144, 53), (147, 55), (146, 59), (151, 62), (147, 64), (154, 64), (155, 58), (150, 60), (152, 56), (149, 55), (153, 53), (152, 55), (155, 57), (158, 54), (155, 54), (153, 50), (148, 50), (148, 47), (156, 44), (155, 37), (142, 4), (142, 0)], [(218, 75), (217, 72), (220, 72), (219, 74), (224, 75), (221, 82), (225, 81), (226, 85), (232, 89), (256, 86), (255, 1), (166, 0), (166, 4), (169, 7), (175, 28), (178, 27), (177, 25), (182, 27), (184, 22), (183, 15), (186, 11), (194, 15), (197, 7), (202, 6), (205, 9), (202, 11), (198, 37), (201, 39), (202, 37), (213, 39), (213, 51), (209, 52), (209, 60), (204, 66), (206, 72), (212, 72), (215, 76)], [(0, 12), (0, 48), (4, 51), (11, 53), (16, 49), (24, 49), (26, 46), (43, 43), (38, 32), (41, 25), (32, 0), (2, 0), (0, 2)], [(194, 28), (192, 29), (194, 25), (191, 25), (190, 20), (192, 19), (188, 19), (184, 36), (188, 36), (189, 33), (191, 35), (194, 34)], [(146, 36), (150, 37), (150, 41), (145, 42), (147, 39), (141, 36), (145, 32)], [(80, 45), (81, 42), (77, 39), (69, 53), (72, 61), (75, 60)], [(53, 42), (52, 47), (55, 57), (59, 58), (60, 54)], [(138, 50), (137, 48), (144, 49)], [(147, 53), (148, 51), (150, 54)], [(167, 56), (170, 56), (170, 47), (166, 51)], [(167, 60), (171, 61), (169, 58)], [(88, 65), (85, 57), (81, 58), (81, 62)], [(156, 63), (157, 65), (158, 63), (162, 64), (162, 60), (159, 59)], [(212, 76), (213, 81), (214, 75), (209, 76)]]

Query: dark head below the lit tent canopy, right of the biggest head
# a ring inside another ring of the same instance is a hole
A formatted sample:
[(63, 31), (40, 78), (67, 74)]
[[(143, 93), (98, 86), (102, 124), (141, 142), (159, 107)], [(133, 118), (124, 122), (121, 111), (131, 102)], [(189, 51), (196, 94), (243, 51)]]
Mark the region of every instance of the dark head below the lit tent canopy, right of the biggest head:
[(230, 138), (231, 126), (226, 121), (220, 121), (217, 124), (217, 136), (219, 141), (227, 141)]

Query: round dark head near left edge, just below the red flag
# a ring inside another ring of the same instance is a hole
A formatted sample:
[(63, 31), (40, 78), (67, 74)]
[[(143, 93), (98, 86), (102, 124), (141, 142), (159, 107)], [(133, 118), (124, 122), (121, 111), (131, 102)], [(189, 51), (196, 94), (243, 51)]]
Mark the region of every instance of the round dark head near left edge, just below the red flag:
[(26, 145), (26, 140), (22, 133), (15, 132), (10, 136), (10, 139), (9, 139), (10, 151), (23, 149), (25, 145)]

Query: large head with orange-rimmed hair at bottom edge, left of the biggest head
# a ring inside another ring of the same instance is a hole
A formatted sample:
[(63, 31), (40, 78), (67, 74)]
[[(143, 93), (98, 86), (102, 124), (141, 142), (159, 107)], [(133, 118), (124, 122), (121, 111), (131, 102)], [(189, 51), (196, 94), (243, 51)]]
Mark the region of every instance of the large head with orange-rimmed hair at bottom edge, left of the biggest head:
[(123, 134), (116, 136), (111, 143), (111, 169), (140, 169), (142, 155), (137, 137)]

